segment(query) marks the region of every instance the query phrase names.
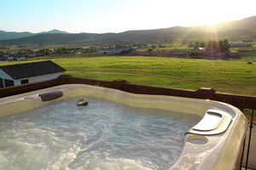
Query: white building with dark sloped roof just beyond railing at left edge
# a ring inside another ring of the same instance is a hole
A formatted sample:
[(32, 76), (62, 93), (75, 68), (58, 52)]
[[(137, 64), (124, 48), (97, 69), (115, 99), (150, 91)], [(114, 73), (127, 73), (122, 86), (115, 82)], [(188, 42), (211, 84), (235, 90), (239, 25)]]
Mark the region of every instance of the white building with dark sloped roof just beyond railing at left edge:
[(0, 66), (0, 88), (52, 80), (60, 77), (64, 71), (50, 60)]

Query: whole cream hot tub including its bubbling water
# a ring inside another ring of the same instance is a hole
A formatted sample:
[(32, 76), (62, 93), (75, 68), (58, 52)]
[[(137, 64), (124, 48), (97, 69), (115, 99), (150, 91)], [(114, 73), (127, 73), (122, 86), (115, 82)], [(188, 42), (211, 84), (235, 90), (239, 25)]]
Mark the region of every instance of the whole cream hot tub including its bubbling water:
[[(89, 105), (75, 105), (78, 99)], [(5, 169), (238, 169), (247, 125), (241, 111), (217, 101), (82, 84), (0, 99), (0, 116)], [(100, 142), (90, 141), (89, 134)], [(9, 161), (17, 156), (18, 162)], [(44, 163), (33, 167), (26, 159)]]

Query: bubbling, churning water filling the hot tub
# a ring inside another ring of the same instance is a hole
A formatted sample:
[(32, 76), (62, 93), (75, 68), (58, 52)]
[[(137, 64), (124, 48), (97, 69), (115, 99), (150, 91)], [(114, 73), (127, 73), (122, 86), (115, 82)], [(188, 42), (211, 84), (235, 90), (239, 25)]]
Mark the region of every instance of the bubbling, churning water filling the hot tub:
[(0, 169), (168, 169), (200, 117), (78, 99), (0, 119)]

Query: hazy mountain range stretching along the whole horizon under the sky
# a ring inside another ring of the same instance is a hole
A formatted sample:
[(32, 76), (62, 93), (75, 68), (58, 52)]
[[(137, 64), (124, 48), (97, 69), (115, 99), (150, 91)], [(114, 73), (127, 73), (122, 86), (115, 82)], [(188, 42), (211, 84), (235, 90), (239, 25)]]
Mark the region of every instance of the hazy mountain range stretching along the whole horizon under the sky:
[(256, 40), (256, 16), (221, 23), (217, 26), (170, 27), (156, 30), (125, 31), (121, 33), (77, 33), (47, 31), (29, 37), (0, 41), (0, 44), (105, 44), (119, 42), (170, 42), (179, 40)]

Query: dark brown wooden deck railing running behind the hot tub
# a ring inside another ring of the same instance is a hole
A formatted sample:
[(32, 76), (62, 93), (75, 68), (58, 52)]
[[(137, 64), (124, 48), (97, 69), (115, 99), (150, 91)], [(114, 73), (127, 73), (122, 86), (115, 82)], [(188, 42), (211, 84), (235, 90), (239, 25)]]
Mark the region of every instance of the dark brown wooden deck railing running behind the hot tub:
[[(46, 82), (36, 82), (32, 84), (20, 85), (17, 87), (10, 88), (0, 88), (0, 98), (8, 97), (15, 94), (23, 94), (33, 90), (38, 90), (42, 88), (49, 88), (57, 85), (63, 84), (90, 84), (95, 86), (101, 86), (105, 88), (115, 88), (125, 92), (130, 92), (134, 94), (154, 94), (154, 95), (169, 95), (185, 98), (195, 98), (195, 99), (212, 99), (234, 105), (239, 108), (241, 111), (246, 113), (246, 110), (250, 110), (246, 116), (251, 115), (249, 119), (249, 133), (247, 138), (244, 139), (243, 149), (241, 152), (241, 167), (244, 166), (245, 169), (248, 168), (248, 160), (250, 157), (250, 147), (252, 143), (252, 131), (253, 131), (253, 116), (256, 112), (256, 96), (246, 96), (246, 95), (236, 95), (236, 94), (224, 94), (218, 93), (213, 88), (200, 88), (198, 90), (184, 90), (184, 89), (175, 89), (175, 88), (157, 88), (149, 87), (137, 84), (131, 84), (124, 80), (118, 80), (113, 82), (100, 81), (94, 79), (85, 79), (85, 78), (76, 78), (64, 76), (55, 80), (50, 80)], [(256, 143), (256, 141), (254, 141)], [(245, 146), (247, 145), (247, 150)], [(245, 151), (246, 155), (245, 155)], [(246, 157), (245, 157), (246, 156)], [(242, 165), (242, 160), (245, 157), (245, 164)], [(256, 168), (256, 167), (254, 167)]]

